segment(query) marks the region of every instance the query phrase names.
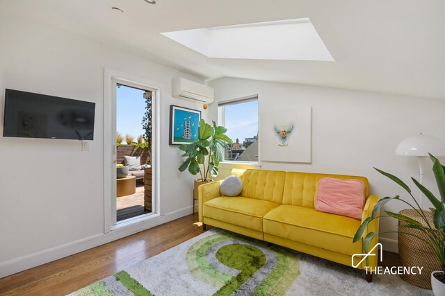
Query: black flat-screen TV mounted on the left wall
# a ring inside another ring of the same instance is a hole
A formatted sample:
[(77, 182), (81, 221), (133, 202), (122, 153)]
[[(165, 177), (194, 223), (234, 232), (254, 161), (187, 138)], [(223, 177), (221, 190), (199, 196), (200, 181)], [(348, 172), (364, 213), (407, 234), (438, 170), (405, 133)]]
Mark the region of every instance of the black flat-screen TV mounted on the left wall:
[(95, 103), (6, 89), (3, 137), (92, 140)]

